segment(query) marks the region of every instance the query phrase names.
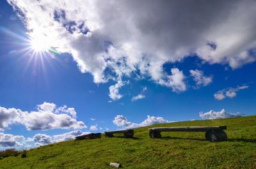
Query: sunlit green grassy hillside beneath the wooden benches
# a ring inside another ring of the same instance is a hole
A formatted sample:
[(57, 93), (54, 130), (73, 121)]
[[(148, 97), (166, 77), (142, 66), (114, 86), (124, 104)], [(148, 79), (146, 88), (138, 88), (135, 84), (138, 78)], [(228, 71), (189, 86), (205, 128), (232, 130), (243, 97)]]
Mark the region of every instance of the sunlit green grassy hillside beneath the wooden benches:
[[(227, 125), (227, 142), (208, 142), (201, 132), (166, 132), (152, 139), (148, 128)], [(122, 136), (54, 143), (27, 152), (26, 158), (0, 160), (0, 168), (256, 168), (256, 116), (157, 124)]]

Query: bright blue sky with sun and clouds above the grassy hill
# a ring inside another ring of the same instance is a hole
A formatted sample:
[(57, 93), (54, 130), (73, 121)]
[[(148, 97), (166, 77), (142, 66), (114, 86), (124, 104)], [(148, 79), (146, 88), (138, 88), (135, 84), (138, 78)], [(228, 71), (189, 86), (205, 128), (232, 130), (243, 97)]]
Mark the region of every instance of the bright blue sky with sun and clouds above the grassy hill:
[(255, 115), (256, 1), (0, 1), (0, 149)]

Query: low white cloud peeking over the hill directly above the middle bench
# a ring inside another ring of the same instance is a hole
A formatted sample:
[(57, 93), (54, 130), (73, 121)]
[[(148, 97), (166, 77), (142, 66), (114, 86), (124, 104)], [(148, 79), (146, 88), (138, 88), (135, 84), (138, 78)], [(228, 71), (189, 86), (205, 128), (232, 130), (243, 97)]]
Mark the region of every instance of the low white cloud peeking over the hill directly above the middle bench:
[(144, 126), (150, 126), (153, 124), (161, 124), (161, 123), (166, 123), (166, 122), (171, 122), (163, 119), (163, 117), (154, 117), (154, 116), (147, 116), (147, 119), (145, 119), (143, 122), (140, 124), (130, 122), (124, 115), (116, 115), (115, 119), (113, 120), (113, 123), (122, 128), (139, 128), (139, 127), (144, 127)]

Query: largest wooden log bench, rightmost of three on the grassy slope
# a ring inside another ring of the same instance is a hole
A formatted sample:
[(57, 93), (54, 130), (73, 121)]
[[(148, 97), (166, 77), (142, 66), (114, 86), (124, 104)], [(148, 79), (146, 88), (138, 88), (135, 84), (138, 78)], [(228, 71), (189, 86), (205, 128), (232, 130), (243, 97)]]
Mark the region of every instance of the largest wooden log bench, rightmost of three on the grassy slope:
[(211, 142), (227, 140), (227, 134), (223, 129), (227, 126), (189, 126), (189, 127), (172, 127), (172, 128), (149, 128), (150, 138), (161, 138), (161, 132), (164, 131), (201, 131), (205, 132), (206, 140)]

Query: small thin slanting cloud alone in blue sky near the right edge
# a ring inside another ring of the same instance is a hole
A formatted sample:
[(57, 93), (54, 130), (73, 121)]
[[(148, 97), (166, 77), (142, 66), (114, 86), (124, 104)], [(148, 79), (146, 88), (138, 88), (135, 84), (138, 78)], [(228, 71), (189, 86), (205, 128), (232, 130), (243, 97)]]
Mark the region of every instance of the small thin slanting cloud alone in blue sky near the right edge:
[(228, 88), (228, 89), (223, 89), (221, 91), (218, 91), (214, 94), (214, 98), (221, 100), (227, 98), (234, 98), (236, 97), (237, 92), (247, 89), (249, 86), (248, 85), (241, 85), (236, 88)]

